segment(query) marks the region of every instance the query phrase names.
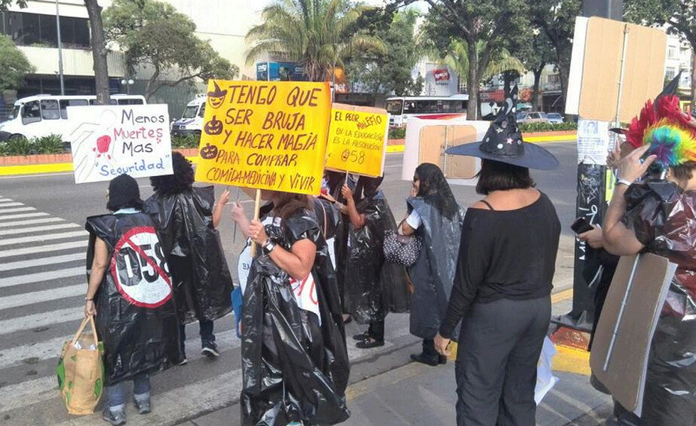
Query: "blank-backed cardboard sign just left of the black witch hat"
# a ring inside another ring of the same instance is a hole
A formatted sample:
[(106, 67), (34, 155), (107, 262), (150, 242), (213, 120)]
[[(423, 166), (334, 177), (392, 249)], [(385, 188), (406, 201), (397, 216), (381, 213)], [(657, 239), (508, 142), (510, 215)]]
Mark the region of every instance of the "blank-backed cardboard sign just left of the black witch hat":
[(481, 141), (490, 121), (468, 121), (463, 114), (447, 119), (413, 116), (406, 126), (401, 179), (413, 180), (415, 168), (433, 163), (453, 185), (476, 185), (474, 176), (481, 169), (479, 158), (445, 154), (447, 148)]

